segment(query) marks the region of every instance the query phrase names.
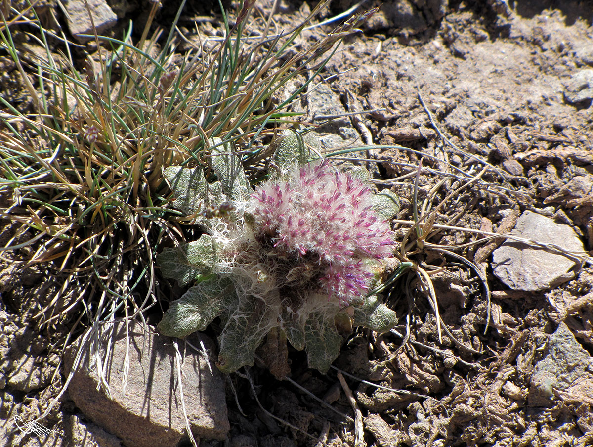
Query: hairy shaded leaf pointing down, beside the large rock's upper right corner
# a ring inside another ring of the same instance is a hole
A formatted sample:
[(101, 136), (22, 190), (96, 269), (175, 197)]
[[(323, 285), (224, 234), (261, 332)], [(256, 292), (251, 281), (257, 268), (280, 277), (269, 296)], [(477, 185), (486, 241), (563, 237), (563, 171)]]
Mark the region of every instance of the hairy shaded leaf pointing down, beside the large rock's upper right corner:
[(270, 329), (278, 326), (278, 309), (272, 309), (260, 299), (243, 297), (225, 321), (218, 337), (218, 369), (231, 373), (241, 366), (253, 366), (257, 347)]

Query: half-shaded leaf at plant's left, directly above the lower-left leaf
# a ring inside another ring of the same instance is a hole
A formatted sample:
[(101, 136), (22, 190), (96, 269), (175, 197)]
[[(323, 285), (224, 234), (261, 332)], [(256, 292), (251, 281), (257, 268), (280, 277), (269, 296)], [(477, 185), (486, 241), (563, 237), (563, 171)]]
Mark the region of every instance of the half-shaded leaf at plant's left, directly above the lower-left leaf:
[(157, 255), (164, 277), (177, 280), (180, 286), (211, 274), (216, 261), (216, 244), (208, 234), (181, 247), (165, 248)]

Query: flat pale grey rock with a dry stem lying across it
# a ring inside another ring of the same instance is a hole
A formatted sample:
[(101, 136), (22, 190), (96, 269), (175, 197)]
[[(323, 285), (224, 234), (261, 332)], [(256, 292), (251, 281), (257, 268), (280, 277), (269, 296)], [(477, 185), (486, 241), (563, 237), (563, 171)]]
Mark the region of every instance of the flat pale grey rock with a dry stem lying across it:
[[(583, 244), (568, 225), (525, 211), (512, 231), (514, 236), (558, 245), (569, 251), (584, 251)], [(514, 290), (546, 290), (574, 277), (569, 270), (576, 262), (543, 248), (507, 240), (492, 253), (493, 271)]]

